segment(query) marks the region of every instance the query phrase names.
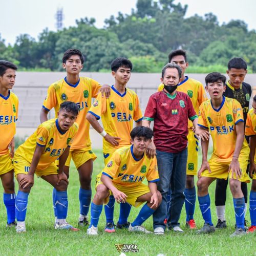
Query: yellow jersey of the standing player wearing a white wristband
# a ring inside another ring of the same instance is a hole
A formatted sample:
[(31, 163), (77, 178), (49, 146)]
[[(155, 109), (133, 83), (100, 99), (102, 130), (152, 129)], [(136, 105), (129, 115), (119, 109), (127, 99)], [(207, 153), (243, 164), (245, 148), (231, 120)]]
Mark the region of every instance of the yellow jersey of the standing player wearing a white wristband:
[(131, 144), (130, 133), (133, 129), (133, 121), (139, 122), (143, 118), (137, 94), (126, 88), (121, 95), (114, 86), (111, 87), (111, 95), (108, 99), (98, 95), (89, 113), (97, 119), (102, 117), (106, 133), (121, 138), (118, 140), (118, 146), (112, 146), (103, 138), (103, 153), (109, 154), (115, 152), (117, 148)]

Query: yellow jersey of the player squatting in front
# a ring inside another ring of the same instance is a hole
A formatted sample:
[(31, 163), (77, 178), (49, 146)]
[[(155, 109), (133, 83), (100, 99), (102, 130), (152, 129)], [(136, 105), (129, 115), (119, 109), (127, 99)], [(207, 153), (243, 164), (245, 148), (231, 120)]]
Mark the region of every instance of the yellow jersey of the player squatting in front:
[(139, 186), (144, 178), (148, 182), (159, 181), (156, 157), (149, 159), (144, 153), (141, 159), (133, 154), (133, 145), (124, 146), (114, 152), (102, 174), (112, 182), (125, 187)]

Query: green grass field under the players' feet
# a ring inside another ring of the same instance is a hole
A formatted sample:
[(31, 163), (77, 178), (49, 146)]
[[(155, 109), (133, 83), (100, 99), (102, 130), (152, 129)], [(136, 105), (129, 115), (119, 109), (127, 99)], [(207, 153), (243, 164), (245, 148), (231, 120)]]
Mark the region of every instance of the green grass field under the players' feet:
[[(94, 190), (95, 176), (103, 167), (103, 157), (100, 151), (95, 151), (98, 159), (94, 163), (92, 189)], [(248, 185), (248, 191), (250, 184)], [(216, 224), (216, 213), (214, 205), (215, 184), (211, 185), (211, 212), (212, 220)], [(69, 211), (68, 221), (77, 226), (79, 216), (78, 201), (79, 180), (74, 165), (70, 172), (70, 183), (68, 188)], [(16, 188), (17, 191), (17, 188)], [(3, 195), (3, 188), (0, 188)], [(139, 208), (140, 209), (140, 208)], [(136, 217), (139, 209), (132, 208), (129, 220)], [(115, 207), (115, 222), (119, 215), (119, 206)], [(226, 204), (226, 219), (228, 228), (217, 230), (210, 235), (197, 235), (194, 231), (185, 228), (185, 209), (181, 214), (181, 228), (185, 230), (182, 234), (167, 231), (165, 236), (154, 236), (154, 234), (130, 233), (127, 230), (117, 230), (116, 233), (104, 233), (104, 212), (99, 221), (99, 236), (88, 237), (86, 228), (78, 232), (61, 231), (54, 229), (54, 216), (52, 208), (52, 187), (44, 180), (35, 178), (34, 187), (29, 196), (26, 228), (27, 232), (16, 234), (15, 228), (6, 228), (6, 210), (2, 200), (0, 204), (0, 255), (120, 255), (115, 244), (136, 244), (138, 253), (126, 253), (126, 255), (256, 255), (256, 234), (248, 234), (240, 238), (229, 238), (234, 231), (234, 211), (230, 192)], [(249, 220), (247, 210), (246, 219)], [(196, 204), (195, 220), (198, 227), (203, 225), (203, 219)], [(152, 218), (144, 223), (144, 226), (153, 231)]]

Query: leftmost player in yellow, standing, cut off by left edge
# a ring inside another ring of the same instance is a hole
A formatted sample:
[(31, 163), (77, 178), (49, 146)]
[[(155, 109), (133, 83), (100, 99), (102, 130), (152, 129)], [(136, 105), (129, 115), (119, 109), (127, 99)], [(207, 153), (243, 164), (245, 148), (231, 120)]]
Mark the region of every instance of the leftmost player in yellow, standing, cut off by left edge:
[[(12, 158), (14, 135), (18, 119), (18, 98), (13, 88), (17, 67), (0, 60), (0, 177), (4, 187), (4, 204), (7, 211), (7, 227), (15, 226), (15, 191)], [(9, 150), (10, 147), (10, 150)]]

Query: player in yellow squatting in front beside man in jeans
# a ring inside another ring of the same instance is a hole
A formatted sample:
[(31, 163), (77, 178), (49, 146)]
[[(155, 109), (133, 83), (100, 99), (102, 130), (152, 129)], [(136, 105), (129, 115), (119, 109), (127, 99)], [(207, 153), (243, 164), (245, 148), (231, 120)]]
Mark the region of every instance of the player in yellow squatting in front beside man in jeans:
[[(156, 158), (148, 158), (145, 151), (151, 142), (153, 131), (137, 126), (131, 132), (132, 145), (116, 150), (104, 167), (101, 178), (96, 179), (96, 195), (91, 205), (91, 224), (87, 229), (90, 235), (98, 234), (98, 221), (102, 204), (113, 195), (118, 203), (128, 202), (141, 208), (139, 215), (129, 226), (129, 231), (151, 233), (141, 224), (150, 218), (161, 204), (161, 194), (157, 190), (159, 181)], [(148, 185), (143, 184), (144, 178)]]

